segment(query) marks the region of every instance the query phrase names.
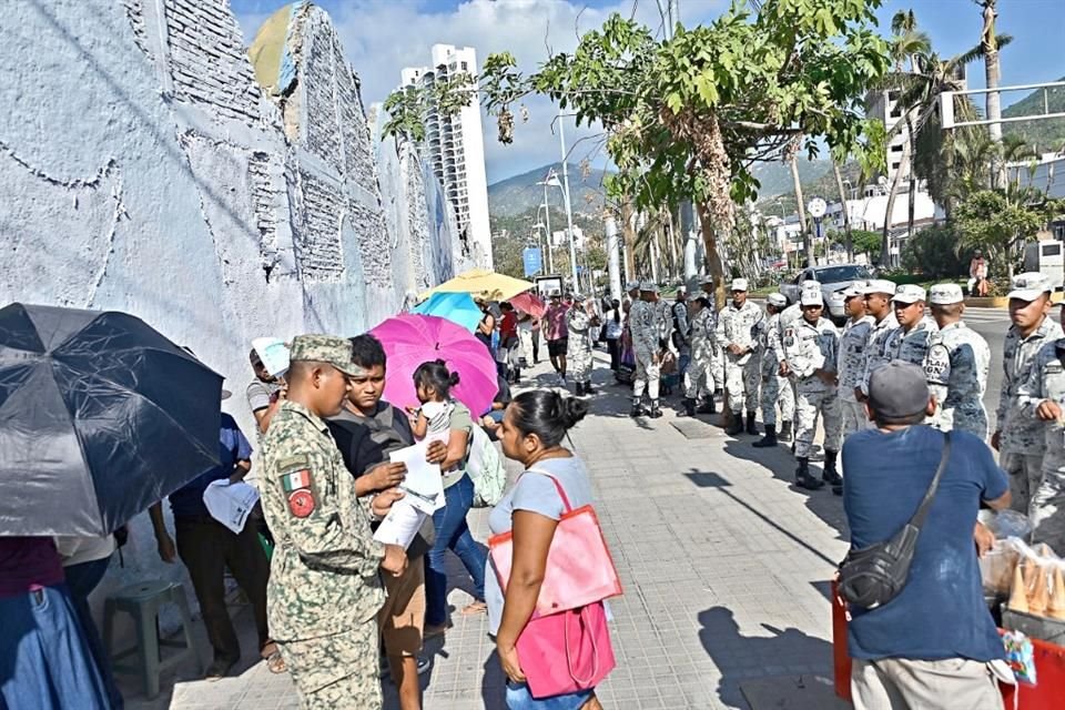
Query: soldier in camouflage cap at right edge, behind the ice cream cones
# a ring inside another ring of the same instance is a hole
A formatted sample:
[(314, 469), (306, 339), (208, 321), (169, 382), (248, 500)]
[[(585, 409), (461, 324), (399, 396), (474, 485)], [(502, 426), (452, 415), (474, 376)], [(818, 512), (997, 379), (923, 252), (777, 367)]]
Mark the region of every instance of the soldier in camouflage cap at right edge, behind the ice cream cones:
[(1010, 320), (1002, 352), (1002, 392), (995, 410), (995, 433), (991, 445), (998, 450), (998, 465), (1010, 474), (1011, 507), (1028, 514), (1028, 503), (1043, 477), (1043, 427), (1018, 412), (1020, 388), (1028, 379), (1032, 363), (1048, 343), (1065, 337), (1062, 326), (1049, 316), (1049, 280), (1030, 272), (1013, 278), (1010, 292)]

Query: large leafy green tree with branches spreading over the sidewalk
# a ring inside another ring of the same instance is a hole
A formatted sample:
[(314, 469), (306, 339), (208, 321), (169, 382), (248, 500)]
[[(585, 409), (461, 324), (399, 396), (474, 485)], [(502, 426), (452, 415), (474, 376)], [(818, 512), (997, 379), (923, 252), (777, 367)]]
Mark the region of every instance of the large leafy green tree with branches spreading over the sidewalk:
[[(797, 135), (845, 153), (869, 149), (860, 99), (890, 68), (874, 30), (880, 0), (736, 1), (710, 24), (680, 24), (669, 39), (611, 16), (571, 54), (525, 75), (509, 53), (485, 62), (480, 91), (500, 134), (511, 106), (540, 93), (599, 122), (619, 168), (608, 191), (638, 209), (671, 210), (691, 199), (710, 273), (721, 283), (718, 243), (736, 229), (736, 203), (751, 200), (753, 162), (780, 160)], [(719, 291), (720, 293), (720, 291)]]

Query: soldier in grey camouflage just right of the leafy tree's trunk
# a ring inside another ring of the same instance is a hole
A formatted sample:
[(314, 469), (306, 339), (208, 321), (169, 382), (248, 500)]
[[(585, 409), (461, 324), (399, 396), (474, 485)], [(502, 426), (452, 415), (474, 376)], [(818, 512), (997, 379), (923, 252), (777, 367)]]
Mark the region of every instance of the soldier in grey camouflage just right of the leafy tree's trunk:
[(762, 322), (762, 310), (747, 300), (747, 278), (733, 278), (729, 291), (732, 301), (721, 310), (718, 321), (718, 341), (724, 348), (724, 388), (729, 393), (729, 410), (732, 424), (726, 434), (736, 436), (743, 432), (743, 412), (747, 412), (747, 433), (758, 434), (754, 419), (758, 416), (758, 385), (761, 379), (761, 362), (758, 349), (757, 327)]

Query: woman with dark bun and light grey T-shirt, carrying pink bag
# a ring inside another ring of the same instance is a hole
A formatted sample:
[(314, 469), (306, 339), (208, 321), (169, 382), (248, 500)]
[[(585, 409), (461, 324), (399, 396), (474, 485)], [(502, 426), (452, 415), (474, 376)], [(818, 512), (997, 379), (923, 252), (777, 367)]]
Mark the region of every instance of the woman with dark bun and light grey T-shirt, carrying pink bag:
[[(518, 658), (518, 637), (540, 594), (547, 554), (565, 506), (554, 478), (576, 509), (591, 503), (591, 483), (582, 460), (562, 446), (567, 432), (588, 413), (588, 404), (550, 389), (525, 392), (510, 403), (498, 436), (503, 453), (525, 467), (488, 517), (493, 535), (511, 531), (514, 560), (506, 595), (495, 570), (487, 579), (488, 627), (496, 635), (499, 662), (507, 674), (511, 710), (601, 710), (594, 688), (550, 698), (529, 693)], [(558, 649), (559, 658), (566, 649)]]

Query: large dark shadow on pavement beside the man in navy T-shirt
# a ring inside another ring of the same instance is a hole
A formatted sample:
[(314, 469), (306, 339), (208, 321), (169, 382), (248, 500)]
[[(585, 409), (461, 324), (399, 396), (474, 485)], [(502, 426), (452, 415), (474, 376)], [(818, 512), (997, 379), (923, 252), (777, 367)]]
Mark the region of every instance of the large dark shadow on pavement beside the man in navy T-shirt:
[(826, 672), (832, 667), (832, 645), (799, 629), (762, 623), (772, 636), (743, 636), (732, 611), (724, 607), (700, 611), (699, 623), (699, 640), (721, 671), (718, 696), (729, 707), (748, 707), (741, 682), (788, 676), (799, 690), (818, 682), (811, 668)]

